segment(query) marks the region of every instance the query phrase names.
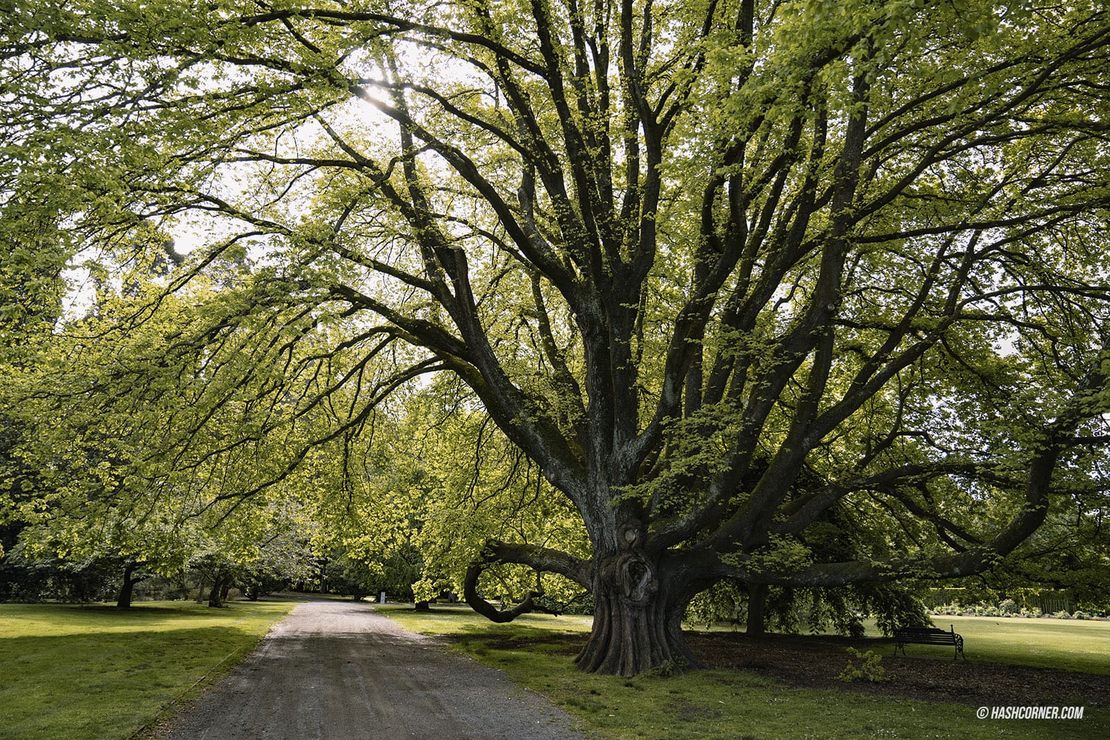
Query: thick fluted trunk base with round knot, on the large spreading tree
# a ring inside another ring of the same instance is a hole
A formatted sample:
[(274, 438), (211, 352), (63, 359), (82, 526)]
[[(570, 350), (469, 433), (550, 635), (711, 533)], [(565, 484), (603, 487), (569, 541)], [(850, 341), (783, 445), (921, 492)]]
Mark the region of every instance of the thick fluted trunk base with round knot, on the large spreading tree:
[(586, 672), (637, 676), (698, 667), (682, 632), (689, 599), (644, 554), (607, 559), (594, 577), (594, 628), (576, 658)]

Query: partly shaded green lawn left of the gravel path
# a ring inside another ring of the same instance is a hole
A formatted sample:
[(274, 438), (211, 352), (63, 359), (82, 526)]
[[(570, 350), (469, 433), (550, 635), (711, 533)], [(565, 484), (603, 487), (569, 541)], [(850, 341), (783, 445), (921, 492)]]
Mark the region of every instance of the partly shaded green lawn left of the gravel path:
[(223, 676), (295, 605), (0, 604), (0, 740), (130, 738)]

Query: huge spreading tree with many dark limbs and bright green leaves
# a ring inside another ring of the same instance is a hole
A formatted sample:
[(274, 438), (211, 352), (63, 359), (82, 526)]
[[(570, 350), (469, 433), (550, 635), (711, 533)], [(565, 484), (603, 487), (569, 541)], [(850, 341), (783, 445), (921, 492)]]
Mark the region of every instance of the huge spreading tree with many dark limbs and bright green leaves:
[[(349, 449), (454, 374), (592, 546), (490, 541), (467, 598), (515, 614), (475, 588), (492, 564), (582, 584), (584, 670), (693, 662), (679, 619), (720, 579), (758, 604), (963, 576), (1076, 490), (1104, 506), (1079, 465), (1110, 410), (1099, 2), (0, 12), (2, 172), (90, 242), (202, 232), (168, 291), (251, 265), (170, 344), (185, 428), (238, 404), (243, 439)], [(196, 438), (163, 459), (236, 444)]]

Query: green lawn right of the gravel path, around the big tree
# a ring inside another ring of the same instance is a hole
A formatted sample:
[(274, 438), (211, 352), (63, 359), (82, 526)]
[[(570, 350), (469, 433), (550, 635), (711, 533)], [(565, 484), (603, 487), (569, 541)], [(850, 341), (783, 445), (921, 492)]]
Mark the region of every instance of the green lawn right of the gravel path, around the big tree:
[[(584, 675), (575, 670), (568, 651), (582, 643), (588, 617), (526, 615), (511, 625), (494, 625), (473, 612), (442, 606), (431, 614), (411, 607), (376, 608), (408, 629), (450, 638), (464, 652), (544, 693), (601, 738), (1110, 737), (1107, 707), (1087, 707), (1079, 721), (991, 721), (977, 719), (976, 707), (849, 690), (795, 689), (747, 671), (635, 679)], [(1110, 673), (1110, 622), (945, 618), (937, 624), (956, 626), (967, 640), (972, 662), (1005, 658), (1011, 663)], [(944, 651), (931, 646), (914, 648)], [(915, 649), (910, 652), (920, 655)], [(950, 652), (951, 648), (946, 655)]]

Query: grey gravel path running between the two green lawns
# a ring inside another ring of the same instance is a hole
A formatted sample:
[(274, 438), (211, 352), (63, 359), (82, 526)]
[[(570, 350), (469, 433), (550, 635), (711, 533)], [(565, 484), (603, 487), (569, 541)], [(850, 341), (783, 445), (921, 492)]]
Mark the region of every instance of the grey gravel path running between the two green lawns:
[(448, 652), (366, 605), (306, 601), (170, 740), (471, 738), (585, 740), (571, 718), (501, 671)]

